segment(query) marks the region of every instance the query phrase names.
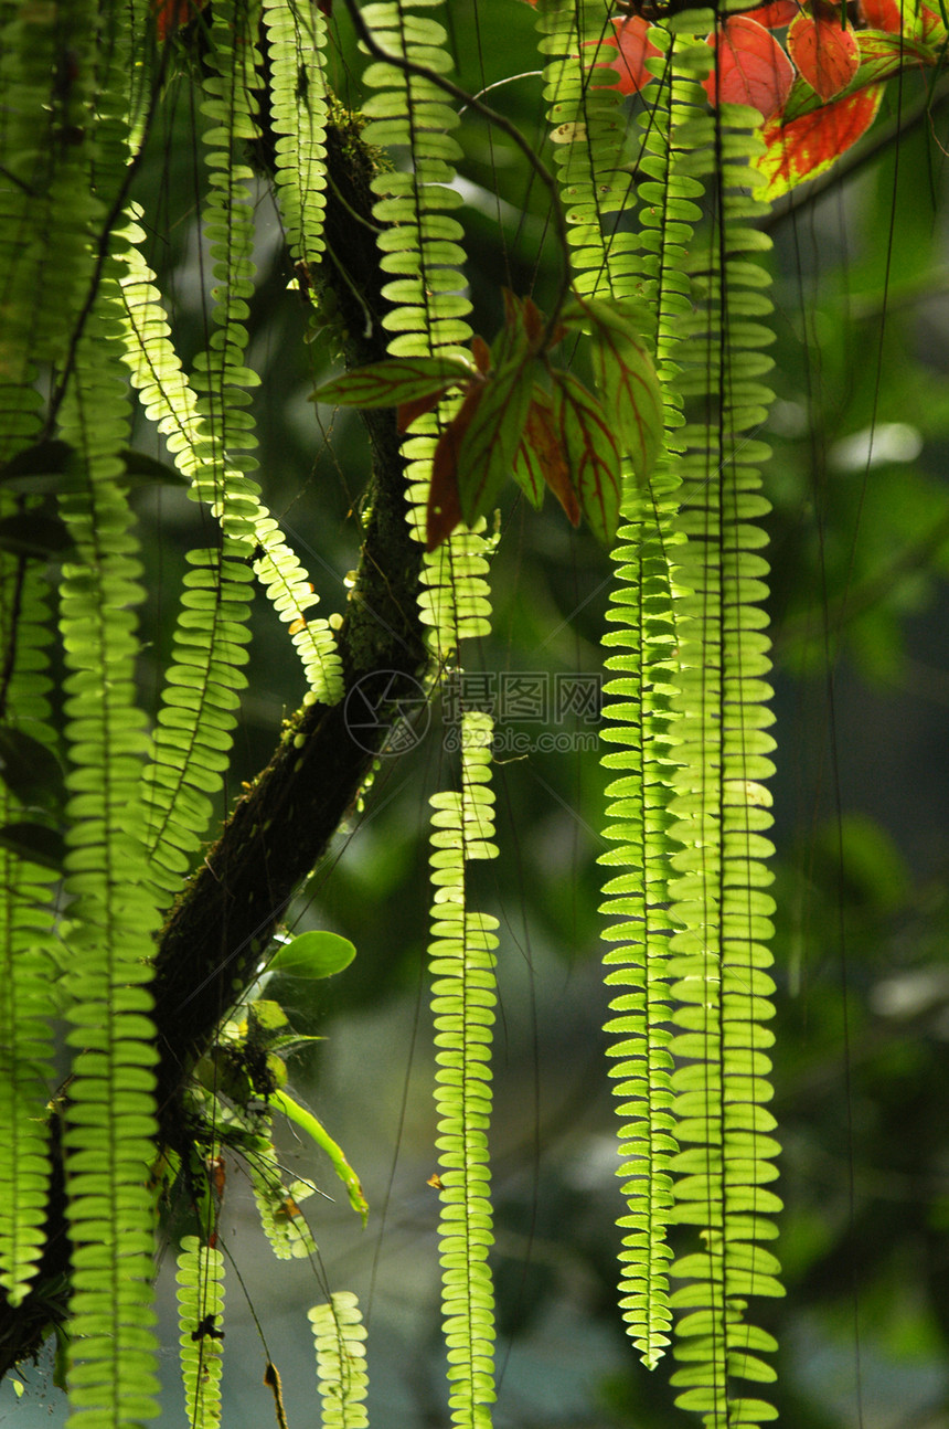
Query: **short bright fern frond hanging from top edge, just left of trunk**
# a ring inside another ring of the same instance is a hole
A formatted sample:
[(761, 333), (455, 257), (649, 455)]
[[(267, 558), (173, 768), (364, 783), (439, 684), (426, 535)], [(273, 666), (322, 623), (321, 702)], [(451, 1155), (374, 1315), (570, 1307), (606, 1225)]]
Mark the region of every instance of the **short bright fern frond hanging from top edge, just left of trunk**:
[(270, 49), (270, 124), (280, 217), (294, 259), (323, 253), (325, 211), (327, 23), (317, 6), (264, 0)]

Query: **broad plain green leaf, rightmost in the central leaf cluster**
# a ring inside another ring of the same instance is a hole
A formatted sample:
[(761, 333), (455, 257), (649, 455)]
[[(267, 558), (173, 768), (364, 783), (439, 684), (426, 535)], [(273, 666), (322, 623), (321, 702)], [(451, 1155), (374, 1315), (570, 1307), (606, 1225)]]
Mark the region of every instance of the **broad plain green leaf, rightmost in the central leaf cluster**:
[(645, 343), (639, 337), (639, 306), (575, 297), (564, 320), (582, 314), (591, 334), (594, 377), (618, 444), (646, 482), (662, 443), (662, 393)]

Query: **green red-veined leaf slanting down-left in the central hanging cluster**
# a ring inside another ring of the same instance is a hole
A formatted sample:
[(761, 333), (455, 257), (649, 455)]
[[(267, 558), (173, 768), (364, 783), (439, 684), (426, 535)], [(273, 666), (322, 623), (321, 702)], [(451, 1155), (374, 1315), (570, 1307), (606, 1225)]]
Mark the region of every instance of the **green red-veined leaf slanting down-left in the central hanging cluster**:
[(484, 394), (458, 447), (458, 500), (465, 524), (494, 507), (521, 444), (535, 363), (521, 334), (518, 349), (484, 383)]

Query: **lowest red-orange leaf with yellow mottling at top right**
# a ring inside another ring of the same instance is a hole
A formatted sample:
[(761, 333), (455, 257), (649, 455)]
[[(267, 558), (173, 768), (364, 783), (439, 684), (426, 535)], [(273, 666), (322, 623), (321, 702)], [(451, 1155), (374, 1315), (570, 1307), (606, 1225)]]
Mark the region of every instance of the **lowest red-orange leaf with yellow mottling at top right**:
[(779, 117), (768, 120), (762, 129), (766, 153), (756, 160), (768, 179), (762, 196), (778, 199), (829, 169), (871, 127), (882, 97), (883, 86), (871, 84), (789, 124)]

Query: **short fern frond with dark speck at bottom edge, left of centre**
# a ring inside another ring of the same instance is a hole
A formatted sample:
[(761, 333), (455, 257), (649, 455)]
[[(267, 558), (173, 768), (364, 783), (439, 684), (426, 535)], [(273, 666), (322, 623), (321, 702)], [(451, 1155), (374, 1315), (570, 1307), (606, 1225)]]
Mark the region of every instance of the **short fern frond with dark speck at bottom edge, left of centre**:
[(221, 1422), (224, 1256), (198, 1236), (184, 1236), (177, 1280), (187, 1422), (190, 1429), (215, 1429)]

